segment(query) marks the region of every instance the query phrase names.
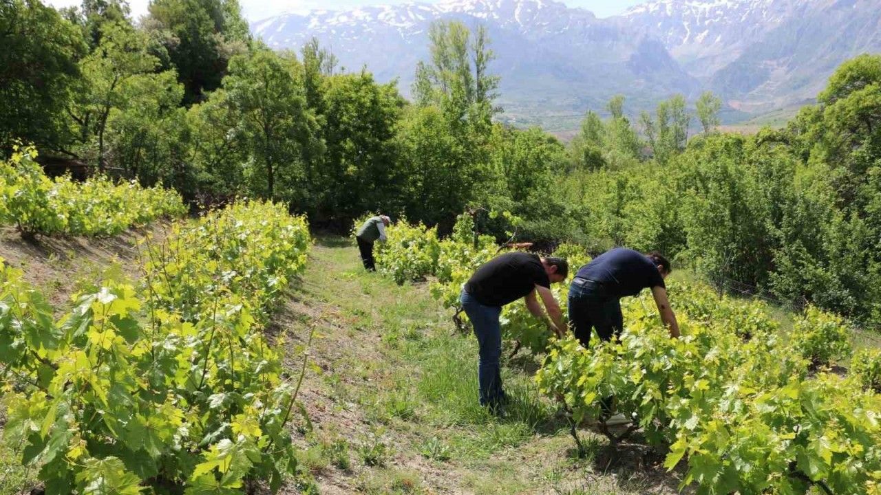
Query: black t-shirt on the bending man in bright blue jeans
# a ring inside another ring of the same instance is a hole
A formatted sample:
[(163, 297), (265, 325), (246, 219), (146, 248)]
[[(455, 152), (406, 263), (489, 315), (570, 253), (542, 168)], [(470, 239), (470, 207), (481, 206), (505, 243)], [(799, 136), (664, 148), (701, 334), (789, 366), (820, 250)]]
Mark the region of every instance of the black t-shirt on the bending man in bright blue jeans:
[(481, 265), (465, 284), (465, 291), (482, 305), (500, 307), (525, 297), (536, 284), (551, 287), (541, 258), (529, 253), (506, 253)]

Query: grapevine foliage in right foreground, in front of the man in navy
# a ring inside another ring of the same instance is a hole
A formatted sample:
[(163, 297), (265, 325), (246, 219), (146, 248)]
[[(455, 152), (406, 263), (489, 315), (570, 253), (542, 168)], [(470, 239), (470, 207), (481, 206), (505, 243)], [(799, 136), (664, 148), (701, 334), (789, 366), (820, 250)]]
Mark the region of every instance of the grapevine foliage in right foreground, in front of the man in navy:
[(698, 484), (698, 493), (877, 488), (877, 395), (837, 375), (809, 377), (810, 361), (767, 331), (767, 312), (738, 318), (732, 331), (737, 303), (710, 305), (704, 287), (671, 284), (670, 292), (675, 301), (702, 301), (677, 307), (681, 338), (670, 339), (648, 296), (633, 299), (619, 341), (553, 344), (539, 387), (562, 397), (575, 421), (599, 417), (601, 399), (614, 395), (618, 412), (638, 417), (647, 440), (668, 451), (668, 469), (687, 460), (683, 485)]

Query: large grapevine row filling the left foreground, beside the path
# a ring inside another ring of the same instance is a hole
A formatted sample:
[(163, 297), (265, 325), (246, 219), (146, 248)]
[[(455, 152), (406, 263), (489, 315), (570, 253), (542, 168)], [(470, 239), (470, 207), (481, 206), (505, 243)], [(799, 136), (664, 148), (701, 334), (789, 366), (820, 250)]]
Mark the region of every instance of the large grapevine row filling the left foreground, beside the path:
[(46, 492), (278, 491), (296, 390), (260, 321), (308, 242), (277, 205), (213, 212), (147, 247), (142, 286), (105, 280), (57, 321), (4, 266), (4, 436)]

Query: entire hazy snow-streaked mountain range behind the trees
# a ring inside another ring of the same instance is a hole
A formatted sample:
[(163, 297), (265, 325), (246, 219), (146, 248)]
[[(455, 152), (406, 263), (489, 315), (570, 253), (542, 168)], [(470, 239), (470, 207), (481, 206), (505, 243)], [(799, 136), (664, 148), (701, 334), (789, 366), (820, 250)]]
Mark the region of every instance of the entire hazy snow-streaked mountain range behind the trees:
[(620, 16), (552, 0), (446, 0), (283, 14), (252, 26), (272, 48), (316, 37), (349, 71), (398, 79), (404, 94), (437, 19), (484, 24), (510, 122), (574, 129), (623, 93), (632, 114), (704, 89), (764, 112), (810, 100), (844, 60), (881, 51), (881, 0), (655, 0)]

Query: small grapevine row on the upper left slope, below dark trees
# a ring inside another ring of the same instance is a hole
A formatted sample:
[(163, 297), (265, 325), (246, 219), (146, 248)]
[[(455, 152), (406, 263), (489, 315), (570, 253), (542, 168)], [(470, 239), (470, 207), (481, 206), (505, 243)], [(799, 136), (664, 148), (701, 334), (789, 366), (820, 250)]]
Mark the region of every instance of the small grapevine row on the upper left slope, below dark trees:
[(186, 212), (181, 196), (161, 186), (117, 185), (101, 176), (52, 181), (36, 157), (33, 146), (16, 147), (11, 159), (0, 163), (0, 223), (16, 225), (22, 235), (111, 235)]

